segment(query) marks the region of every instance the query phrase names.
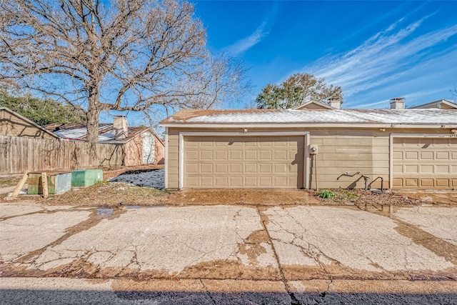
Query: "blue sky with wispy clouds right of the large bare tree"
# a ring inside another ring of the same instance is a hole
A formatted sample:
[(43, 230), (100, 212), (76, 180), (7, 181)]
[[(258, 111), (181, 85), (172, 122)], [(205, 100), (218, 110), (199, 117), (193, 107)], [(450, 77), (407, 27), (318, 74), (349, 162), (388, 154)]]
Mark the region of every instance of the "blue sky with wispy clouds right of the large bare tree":
[(343, 89), (343, 108), (457, 99), (457, 1), (193, 1), (207, 45), (244, 62), (253, 88), (297, 72)]

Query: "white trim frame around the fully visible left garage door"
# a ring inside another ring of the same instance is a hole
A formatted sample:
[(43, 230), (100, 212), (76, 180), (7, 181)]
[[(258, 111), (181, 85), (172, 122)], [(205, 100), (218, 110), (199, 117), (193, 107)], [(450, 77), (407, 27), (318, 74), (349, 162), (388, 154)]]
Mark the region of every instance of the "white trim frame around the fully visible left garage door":
[[(262, 132), (214, 132), (214, 131), (188, 131), (179, 133), (179, 189), (184, 189), (184, 137), (185, 136), (304, 136), (304, 162), (303, 162), (303, 189), (308, 188), (309, 175), (309, 131), (262, 131)], [(167, 142), (168, 144), (168, 142)], [(166, 176), (166, 179), (168, 177)]]

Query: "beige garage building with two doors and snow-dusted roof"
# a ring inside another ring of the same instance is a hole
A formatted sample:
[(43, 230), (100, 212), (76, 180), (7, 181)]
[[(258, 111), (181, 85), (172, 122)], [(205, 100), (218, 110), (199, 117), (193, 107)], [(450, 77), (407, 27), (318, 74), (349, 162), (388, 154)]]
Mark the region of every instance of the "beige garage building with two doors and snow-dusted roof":
[(179, 111), (161, 121), (166, 188), (457, 188), (457, 110), (397, 102)]

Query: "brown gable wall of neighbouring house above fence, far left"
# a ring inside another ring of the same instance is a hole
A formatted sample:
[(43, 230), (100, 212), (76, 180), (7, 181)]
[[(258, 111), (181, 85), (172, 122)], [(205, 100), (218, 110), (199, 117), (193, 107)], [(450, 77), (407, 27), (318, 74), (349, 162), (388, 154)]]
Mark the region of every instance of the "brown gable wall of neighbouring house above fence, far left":
[(27, 136), (34, 139), (56, 139), (43, 129), (30, 124), (14, 114), (0, 109), (0, 135), (1, 136)]

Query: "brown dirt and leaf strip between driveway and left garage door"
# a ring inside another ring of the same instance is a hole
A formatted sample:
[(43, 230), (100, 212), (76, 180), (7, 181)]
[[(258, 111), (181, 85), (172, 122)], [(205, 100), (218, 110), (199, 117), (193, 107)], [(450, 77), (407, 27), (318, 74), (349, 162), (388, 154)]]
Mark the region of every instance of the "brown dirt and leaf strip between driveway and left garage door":
[(191, 206), (235, 204), (243, 206), (276, 206), (321, 204), (307, 190), (256, 190), (256, 189), (188, 189), (161, 191), (149, 187), (134, 186), (124, 182), (104, 181), (86, 188), (71, 189), (64, 194), (49, 196), (21, 195), (19, 200), (31, 200), (40, 204), (57, 206)]

